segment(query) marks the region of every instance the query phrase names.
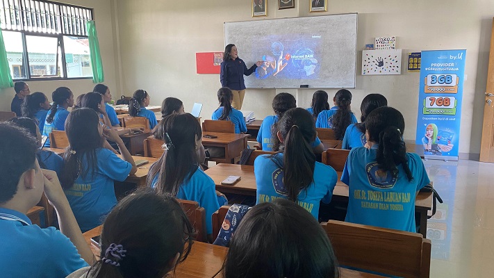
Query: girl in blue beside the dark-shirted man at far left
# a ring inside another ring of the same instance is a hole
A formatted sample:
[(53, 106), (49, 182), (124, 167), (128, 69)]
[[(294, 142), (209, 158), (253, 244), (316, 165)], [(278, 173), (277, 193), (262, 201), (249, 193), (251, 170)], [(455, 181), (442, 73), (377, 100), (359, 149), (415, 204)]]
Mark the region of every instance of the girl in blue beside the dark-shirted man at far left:
[[(47, 118), (50, 104), (48, 98), (42, 92), (33, 92), (31, 95), (26, 95), (21, 104), (22, 117), (29, 117), (38, 121), (40, 131), (44, 128), (44, 120)], [(21, 115), (17, 115), (21, 117)]]

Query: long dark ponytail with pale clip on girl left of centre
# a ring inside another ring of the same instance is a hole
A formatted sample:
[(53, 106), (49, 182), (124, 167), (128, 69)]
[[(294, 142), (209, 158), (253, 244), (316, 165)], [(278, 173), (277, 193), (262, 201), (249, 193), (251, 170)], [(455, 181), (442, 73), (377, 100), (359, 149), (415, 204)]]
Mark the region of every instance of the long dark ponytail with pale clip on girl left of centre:
[(161, 120), (156, 127), (155, 137), (163, 140), (165, 152), (149, 168), (147, 185), (152, 186), (158, 176), (156, 191), (176, 196), (199, 167), (197, 162), (197, 138), (201, 138), (201, 125), (197, 119), (186, 114), (172, 114)]

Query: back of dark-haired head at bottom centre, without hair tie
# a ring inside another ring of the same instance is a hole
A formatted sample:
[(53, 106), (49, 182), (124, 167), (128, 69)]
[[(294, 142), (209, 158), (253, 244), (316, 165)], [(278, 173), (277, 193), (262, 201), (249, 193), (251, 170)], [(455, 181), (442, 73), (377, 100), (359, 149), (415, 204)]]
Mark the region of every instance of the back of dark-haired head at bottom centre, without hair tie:
[(249, 209), (231, 240), (223, 266), (225, 278), (340, 277), (333, 247), (321, 224), (286, 199)]

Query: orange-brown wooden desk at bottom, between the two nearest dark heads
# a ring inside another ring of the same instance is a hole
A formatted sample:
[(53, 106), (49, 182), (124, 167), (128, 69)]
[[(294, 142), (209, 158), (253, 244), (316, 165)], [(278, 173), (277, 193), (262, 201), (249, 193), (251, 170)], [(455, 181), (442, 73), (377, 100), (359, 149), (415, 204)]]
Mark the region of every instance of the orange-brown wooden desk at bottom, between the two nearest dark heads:
[[(99, 236), (101, 228), (102, 226), (99, 226), (83, 234), (85, 242), (90, 245), (92, 253), (97, 258), (100, 251), (98, 247), (91, 244), (91, 238)], [(227, 252), (227, 247), (196, 241), (192, 244), (192, 250), (186, 261), (177, 265), (175, 277), (215, 277), (222, 268)]]

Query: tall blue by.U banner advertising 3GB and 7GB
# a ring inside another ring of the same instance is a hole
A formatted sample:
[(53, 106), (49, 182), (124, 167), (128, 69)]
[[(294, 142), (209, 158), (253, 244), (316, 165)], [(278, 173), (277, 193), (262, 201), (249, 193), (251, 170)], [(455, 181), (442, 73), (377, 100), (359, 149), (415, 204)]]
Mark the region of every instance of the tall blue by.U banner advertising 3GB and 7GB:
[(417, 136), (425, 158), (458, 160), (466, 50), (422, 51)]

